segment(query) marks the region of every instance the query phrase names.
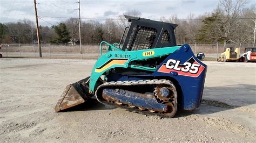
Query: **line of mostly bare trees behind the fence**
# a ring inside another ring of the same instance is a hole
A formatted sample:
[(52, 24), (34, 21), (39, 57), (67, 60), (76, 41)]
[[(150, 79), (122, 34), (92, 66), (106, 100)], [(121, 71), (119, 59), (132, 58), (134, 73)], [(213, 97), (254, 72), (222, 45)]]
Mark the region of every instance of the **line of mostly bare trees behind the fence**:
[[(194, 16), (190, 13), (186, 19), (177, 15), (161, 17), (163, 22), (178, 24), (176, 28), (177, 44), (245, 43), (255, 44), (256, 12), (255, 5), (244, 8), (247, 0), (220, 0), (211, 13)], [(130, 10), (124, 13), (140, 17), (141, 12)], [(90, 20), (81, 22), (82, 44), (98, 44), (105, 40), (119, 42), (123, 30), (129, 23), (123, 15), (119, 19), (106, 19), (104, 23)], [(77, 18), (69, 18), (58, 25), (39, 26), (42, 44), (79, 44)], [(28, 19), (16, 23), (0, 23), (0, 43), (35, 44), (36, 27)]]

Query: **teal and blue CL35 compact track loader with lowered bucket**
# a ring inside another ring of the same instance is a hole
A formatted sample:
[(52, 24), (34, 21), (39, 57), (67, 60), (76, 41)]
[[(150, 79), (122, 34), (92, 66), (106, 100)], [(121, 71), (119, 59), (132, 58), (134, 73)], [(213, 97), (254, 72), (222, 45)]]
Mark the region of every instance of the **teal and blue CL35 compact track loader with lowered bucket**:
[[(199, 60), (204, 54), (196, 57), (189, 45), (176, 45), (176, 24), (125, 17), (131, 24), (120, 43), (101, 42), (102, 56), (91, 76), (66, 87), (56, 112), (93, 96), (103, 104), (166, 118), (173, 117), (177, 108), (198, 108), (207, 69)], [(105, 54), (103, 45), (108, 46)]]

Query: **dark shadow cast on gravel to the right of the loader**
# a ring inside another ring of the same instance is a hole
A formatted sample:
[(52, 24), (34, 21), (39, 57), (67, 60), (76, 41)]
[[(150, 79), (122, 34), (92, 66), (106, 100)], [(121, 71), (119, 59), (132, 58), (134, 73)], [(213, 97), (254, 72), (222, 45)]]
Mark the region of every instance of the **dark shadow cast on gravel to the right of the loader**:
[(176, 117), (193, 114), (208, 115), (220, 111), (240, 108), (256, 103), (256, 85), (234, 84), (221, 87), (205, 87), (203, 99), (194, 111), (178, 111)]

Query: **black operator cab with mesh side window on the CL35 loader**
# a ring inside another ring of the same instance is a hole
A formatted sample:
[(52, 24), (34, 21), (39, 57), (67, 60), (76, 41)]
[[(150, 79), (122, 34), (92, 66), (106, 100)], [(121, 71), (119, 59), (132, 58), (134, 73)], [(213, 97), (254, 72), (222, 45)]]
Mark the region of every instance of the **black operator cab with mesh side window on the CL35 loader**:
[(174, 35), (177, 24), (126, 15), (125, 18), (128, 19), (128, 22), (131, 22), (131, 25), (124, 43), (119, 44), (123, 45), (123, 51), (177, 46)]

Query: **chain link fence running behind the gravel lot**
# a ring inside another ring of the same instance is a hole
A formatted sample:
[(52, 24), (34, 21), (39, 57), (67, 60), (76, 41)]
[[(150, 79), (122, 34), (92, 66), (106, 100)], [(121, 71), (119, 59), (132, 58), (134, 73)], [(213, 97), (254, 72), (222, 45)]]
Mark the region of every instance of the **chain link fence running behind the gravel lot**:
[[(217, 58), (224, 52), (223, 44), (190, 44), (192, 51), (197, 54), (203, 52), (208, 58)], [(1, 45), (0, 53), (3, 58), (39, 58), (38, 45)], [(248, 44), (228, 44), (227, 47), (240, 48), (240, 54), (244, 53)], [(41, 45), (42, 58), (49, 59), (98, 59), (100, 47), (98, 45)], [(103, 46), (103, 53), (107, 46)]]

